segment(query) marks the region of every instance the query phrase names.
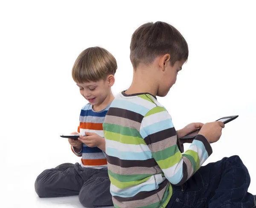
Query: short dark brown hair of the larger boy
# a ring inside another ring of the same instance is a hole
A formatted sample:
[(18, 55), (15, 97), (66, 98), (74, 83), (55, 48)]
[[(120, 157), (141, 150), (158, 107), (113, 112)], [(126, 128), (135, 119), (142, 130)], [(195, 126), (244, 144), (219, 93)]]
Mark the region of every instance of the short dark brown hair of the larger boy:
[(139, 63), (151, 64), (163, 54), (170, 54), (172, 66), (176, 61), (186, 61), (188, 44), (180, 32), (164, 22), (145, 23), (131, 37), (130, 59), (134, 69)]

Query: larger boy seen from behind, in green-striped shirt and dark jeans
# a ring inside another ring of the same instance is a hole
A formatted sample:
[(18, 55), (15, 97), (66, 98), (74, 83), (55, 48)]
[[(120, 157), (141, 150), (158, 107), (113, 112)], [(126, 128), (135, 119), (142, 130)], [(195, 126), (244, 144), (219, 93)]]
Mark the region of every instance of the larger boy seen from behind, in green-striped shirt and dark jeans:
[[(132, 35), (130, 49), (133, 81), (113, 100), (103, 123), (115, 208), (252, 208), (250, 176), (238, 156), (201, 167), (224, 123), (191, 123), (176, 131), (157, 101), (188, 59), (180, 32), (168, 23), (146, 23)], [(181, 154), (179, 138), (199, 128)]]

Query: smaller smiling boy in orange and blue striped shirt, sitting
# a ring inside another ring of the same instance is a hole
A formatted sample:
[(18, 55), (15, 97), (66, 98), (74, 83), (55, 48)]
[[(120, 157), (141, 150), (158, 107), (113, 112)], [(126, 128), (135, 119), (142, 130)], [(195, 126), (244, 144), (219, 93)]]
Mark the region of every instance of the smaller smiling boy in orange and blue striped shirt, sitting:
[(102, 123), (114, 99), (111, 86), (116, 69), (116, 59), (104, 48), (87, 48), (76, 59), (72, 77), (89, 103), (81, 109), (78, 133), (71, 133), (80, 138), (68, 141), (81, 163), (64, 163), (43, 171), (35, 181), (39, 197), (79, 195), (88, 208), (113, 205)]

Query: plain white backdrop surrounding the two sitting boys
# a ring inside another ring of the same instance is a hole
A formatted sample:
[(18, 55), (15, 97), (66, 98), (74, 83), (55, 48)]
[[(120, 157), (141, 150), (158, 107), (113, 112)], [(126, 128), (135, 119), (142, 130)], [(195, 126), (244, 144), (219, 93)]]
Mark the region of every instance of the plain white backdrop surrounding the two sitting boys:
[[(93, 3), (92, 3), (93, 2)], [(5, 208), (81, 207), (77, 198), (38, 199), (34, 181), (46, 168), (77, 162), (67, 140), (86, 101), (71, 69), (91, 46), (118, 63), (113, 93), (131, 83), (129, 44), (148, 21), (175, 26), (189, 45), (177, 83), (159, 101), (175, 128), (239, 115), (212, 145), (207, 160), (237, 154), (256, 194), (256, 31), (253, 1), (1, 1), (0, 205)], [(67, 198), (67, 197), (66, 197)]]

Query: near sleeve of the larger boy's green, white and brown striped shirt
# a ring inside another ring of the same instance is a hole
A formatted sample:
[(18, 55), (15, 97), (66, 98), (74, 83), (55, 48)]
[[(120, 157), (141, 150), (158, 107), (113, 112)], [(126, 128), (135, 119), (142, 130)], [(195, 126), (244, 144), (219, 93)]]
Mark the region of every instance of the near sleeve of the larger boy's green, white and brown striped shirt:
[(140, 134), (165, 177), (174, 185), (186, 182), (212, 154), (202, 135), (196, 136), (189, 149), (181, 154), (172, 118), (163, 107), (155, 107), (145, 115)]

